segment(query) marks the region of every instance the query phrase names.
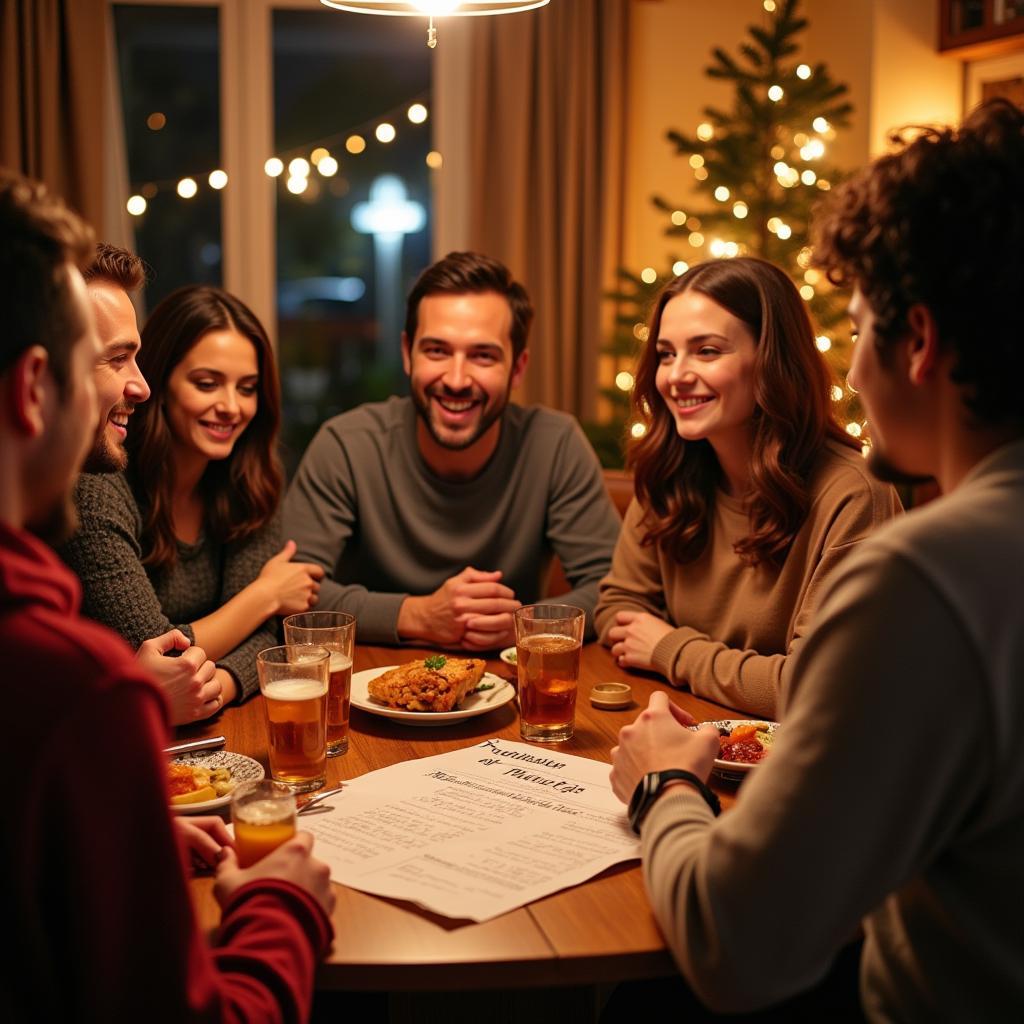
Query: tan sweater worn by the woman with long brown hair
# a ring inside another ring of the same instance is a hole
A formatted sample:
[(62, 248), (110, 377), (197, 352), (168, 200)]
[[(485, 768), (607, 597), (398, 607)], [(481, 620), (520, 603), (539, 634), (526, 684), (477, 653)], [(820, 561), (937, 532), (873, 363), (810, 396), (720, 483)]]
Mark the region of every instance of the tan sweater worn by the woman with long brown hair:
[(654, 668), (674, 686), (752, 715), (774, 717), (792, 655), (807, 632), (822, 584), (854, 545), (900, 512), (852, 449), (828, 442), (810, 479), (811, 508), (780, 569), (740, 561), (750, 532), (742, 504), (719, 492), (708, 547), (682, 564), (645, 547), (643, 510), (626, 513), (595, 620), (607, 643), (615, 613), (649, 611), (677, 627), (654, 648)]

